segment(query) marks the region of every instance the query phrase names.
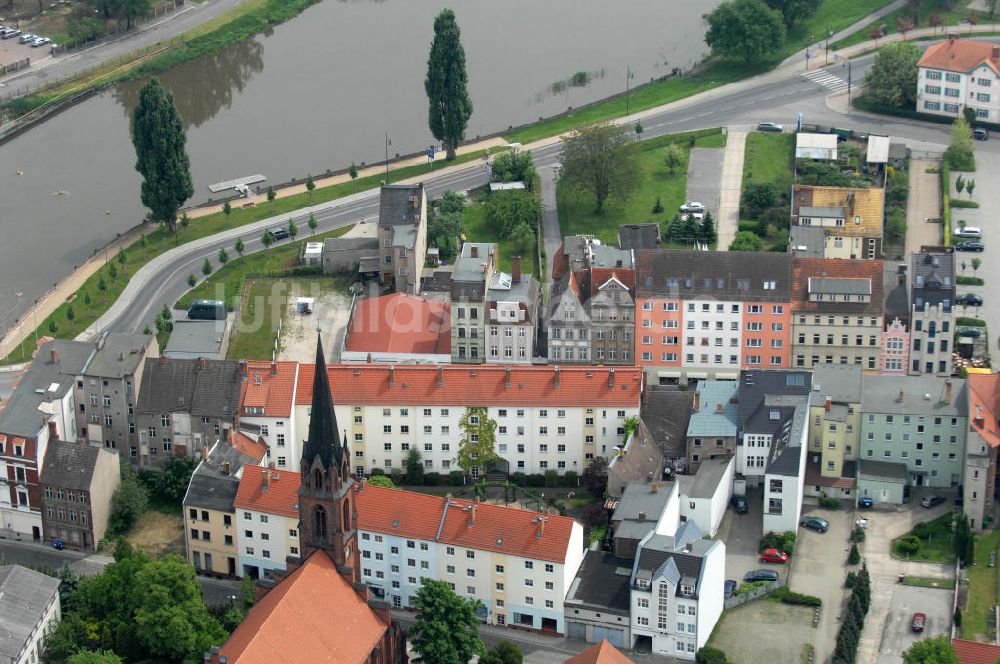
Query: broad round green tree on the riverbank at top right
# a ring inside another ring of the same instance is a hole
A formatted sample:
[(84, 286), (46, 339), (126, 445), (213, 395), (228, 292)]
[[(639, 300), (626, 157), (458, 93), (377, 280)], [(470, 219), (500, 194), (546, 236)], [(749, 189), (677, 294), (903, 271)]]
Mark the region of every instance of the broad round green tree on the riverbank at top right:
[(705, 43), (718, 55), (751, 62), (785, 44), (783, 17), (761, 0), (726, 0), (704, 18)]

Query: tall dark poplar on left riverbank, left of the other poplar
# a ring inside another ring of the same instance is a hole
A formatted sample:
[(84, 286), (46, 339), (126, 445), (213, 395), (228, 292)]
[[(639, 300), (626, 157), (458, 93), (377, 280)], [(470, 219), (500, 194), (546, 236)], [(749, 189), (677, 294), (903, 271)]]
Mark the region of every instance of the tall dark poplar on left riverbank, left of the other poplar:
[(154, 220), (176, 230), (177, 210), (194, 194), (184, 125), (177, 115), (174, 98), (152, 79), (139, 91), (132, 113), (132, 144), (135, 170), (142, 175), (141, 198)]

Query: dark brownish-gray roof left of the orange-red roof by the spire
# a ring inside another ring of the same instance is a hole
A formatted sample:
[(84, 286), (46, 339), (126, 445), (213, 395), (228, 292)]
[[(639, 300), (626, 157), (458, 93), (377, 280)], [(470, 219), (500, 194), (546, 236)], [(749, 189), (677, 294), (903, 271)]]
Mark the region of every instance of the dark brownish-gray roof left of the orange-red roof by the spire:
[(233, 360), (147, 362), (136, 413), (190, 413), (229, 418), (239, 408), (243, 377)]

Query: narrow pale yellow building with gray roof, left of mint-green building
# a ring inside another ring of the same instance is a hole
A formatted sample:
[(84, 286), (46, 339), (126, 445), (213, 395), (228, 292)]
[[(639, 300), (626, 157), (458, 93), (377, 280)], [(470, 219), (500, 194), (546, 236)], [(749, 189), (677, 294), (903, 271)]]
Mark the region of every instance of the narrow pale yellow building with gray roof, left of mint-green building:
[(861, 367), (821, 364), (813, 369), (809, 404), (806, 492), (849, 498), (857, 485), (861, 447)]

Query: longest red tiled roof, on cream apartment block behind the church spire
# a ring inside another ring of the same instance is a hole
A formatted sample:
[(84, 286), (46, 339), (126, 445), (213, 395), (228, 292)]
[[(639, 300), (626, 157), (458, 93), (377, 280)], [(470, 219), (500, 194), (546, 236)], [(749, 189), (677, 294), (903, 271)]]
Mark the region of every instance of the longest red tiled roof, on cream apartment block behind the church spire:
[[(866, 261), (871, 262), (871, 261)], [(328, 367), (334, 403), (495, 406), (639, 406), (642, 369), (638, 367), (553, 367), (501, 365), (432, 366), (333, 365)], [(312, 403), (313, 365), (299, 369), (297, 404)], [(614, 372), (614, 385), (609, 376)], [(390, 375), (394, 376), (390, 380)], [(438, 384), (438, 378), (441, 384)], [(390, 384), (392, 383), (392, 384)]]

